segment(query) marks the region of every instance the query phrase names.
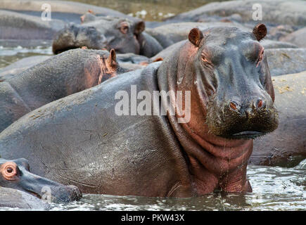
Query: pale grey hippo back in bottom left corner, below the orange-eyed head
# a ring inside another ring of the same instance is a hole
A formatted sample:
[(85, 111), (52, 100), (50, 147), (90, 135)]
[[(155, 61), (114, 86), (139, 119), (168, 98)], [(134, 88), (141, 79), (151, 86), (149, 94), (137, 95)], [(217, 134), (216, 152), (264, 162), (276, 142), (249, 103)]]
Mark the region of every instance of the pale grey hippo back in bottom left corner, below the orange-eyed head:
[(1, 207), (13, 207), (23, 210), (48, 210), (50, 205), (24, 191), (0, 186), (0, 210)]

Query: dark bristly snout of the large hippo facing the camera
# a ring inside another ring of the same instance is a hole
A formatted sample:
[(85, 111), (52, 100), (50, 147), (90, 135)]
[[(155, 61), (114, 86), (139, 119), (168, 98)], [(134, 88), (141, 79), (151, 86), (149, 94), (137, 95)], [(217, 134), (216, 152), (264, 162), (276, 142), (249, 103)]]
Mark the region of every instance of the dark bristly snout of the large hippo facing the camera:
[(255, 139), (278, 127), (279, 115), (271, 98), (231, 99), (218, 103), (211, 103), (207, 116), (210, 131), (217, 136)]

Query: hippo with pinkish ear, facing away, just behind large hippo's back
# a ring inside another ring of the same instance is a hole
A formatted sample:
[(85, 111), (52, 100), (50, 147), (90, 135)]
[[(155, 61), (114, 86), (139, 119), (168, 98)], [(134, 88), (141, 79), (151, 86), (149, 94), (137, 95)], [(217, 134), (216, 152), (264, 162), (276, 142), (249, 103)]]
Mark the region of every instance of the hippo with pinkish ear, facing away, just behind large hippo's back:
[(1, 77), (0, 131), (42, 105), (88, 89), (129, 70), (121, 68), (115, 51), (75, 49), (21, 72)]

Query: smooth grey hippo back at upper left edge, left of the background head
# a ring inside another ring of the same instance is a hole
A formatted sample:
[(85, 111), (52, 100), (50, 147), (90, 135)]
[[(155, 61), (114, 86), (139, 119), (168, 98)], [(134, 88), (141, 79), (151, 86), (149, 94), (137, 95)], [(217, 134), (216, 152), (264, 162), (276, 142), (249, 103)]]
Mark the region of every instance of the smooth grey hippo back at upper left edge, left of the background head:
[(43, 21), (36, 16), (0, 10), (0, 39), (53, 39), (63, 27), (61, 20)]

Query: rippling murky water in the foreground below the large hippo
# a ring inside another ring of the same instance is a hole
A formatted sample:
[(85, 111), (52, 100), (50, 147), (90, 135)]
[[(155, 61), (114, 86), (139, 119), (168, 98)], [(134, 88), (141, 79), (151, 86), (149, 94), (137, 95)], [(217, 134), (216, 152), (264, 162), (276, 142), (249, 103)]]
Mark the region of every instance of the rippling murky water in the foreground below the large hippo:
[(294, 168), (249, 165), (248, 179), (253, 193), (212, 193), (193, 198), (85, 194), (78, 202), (52, 204), (51, 210), (306, 210), (305, 174), (306, 160)]

